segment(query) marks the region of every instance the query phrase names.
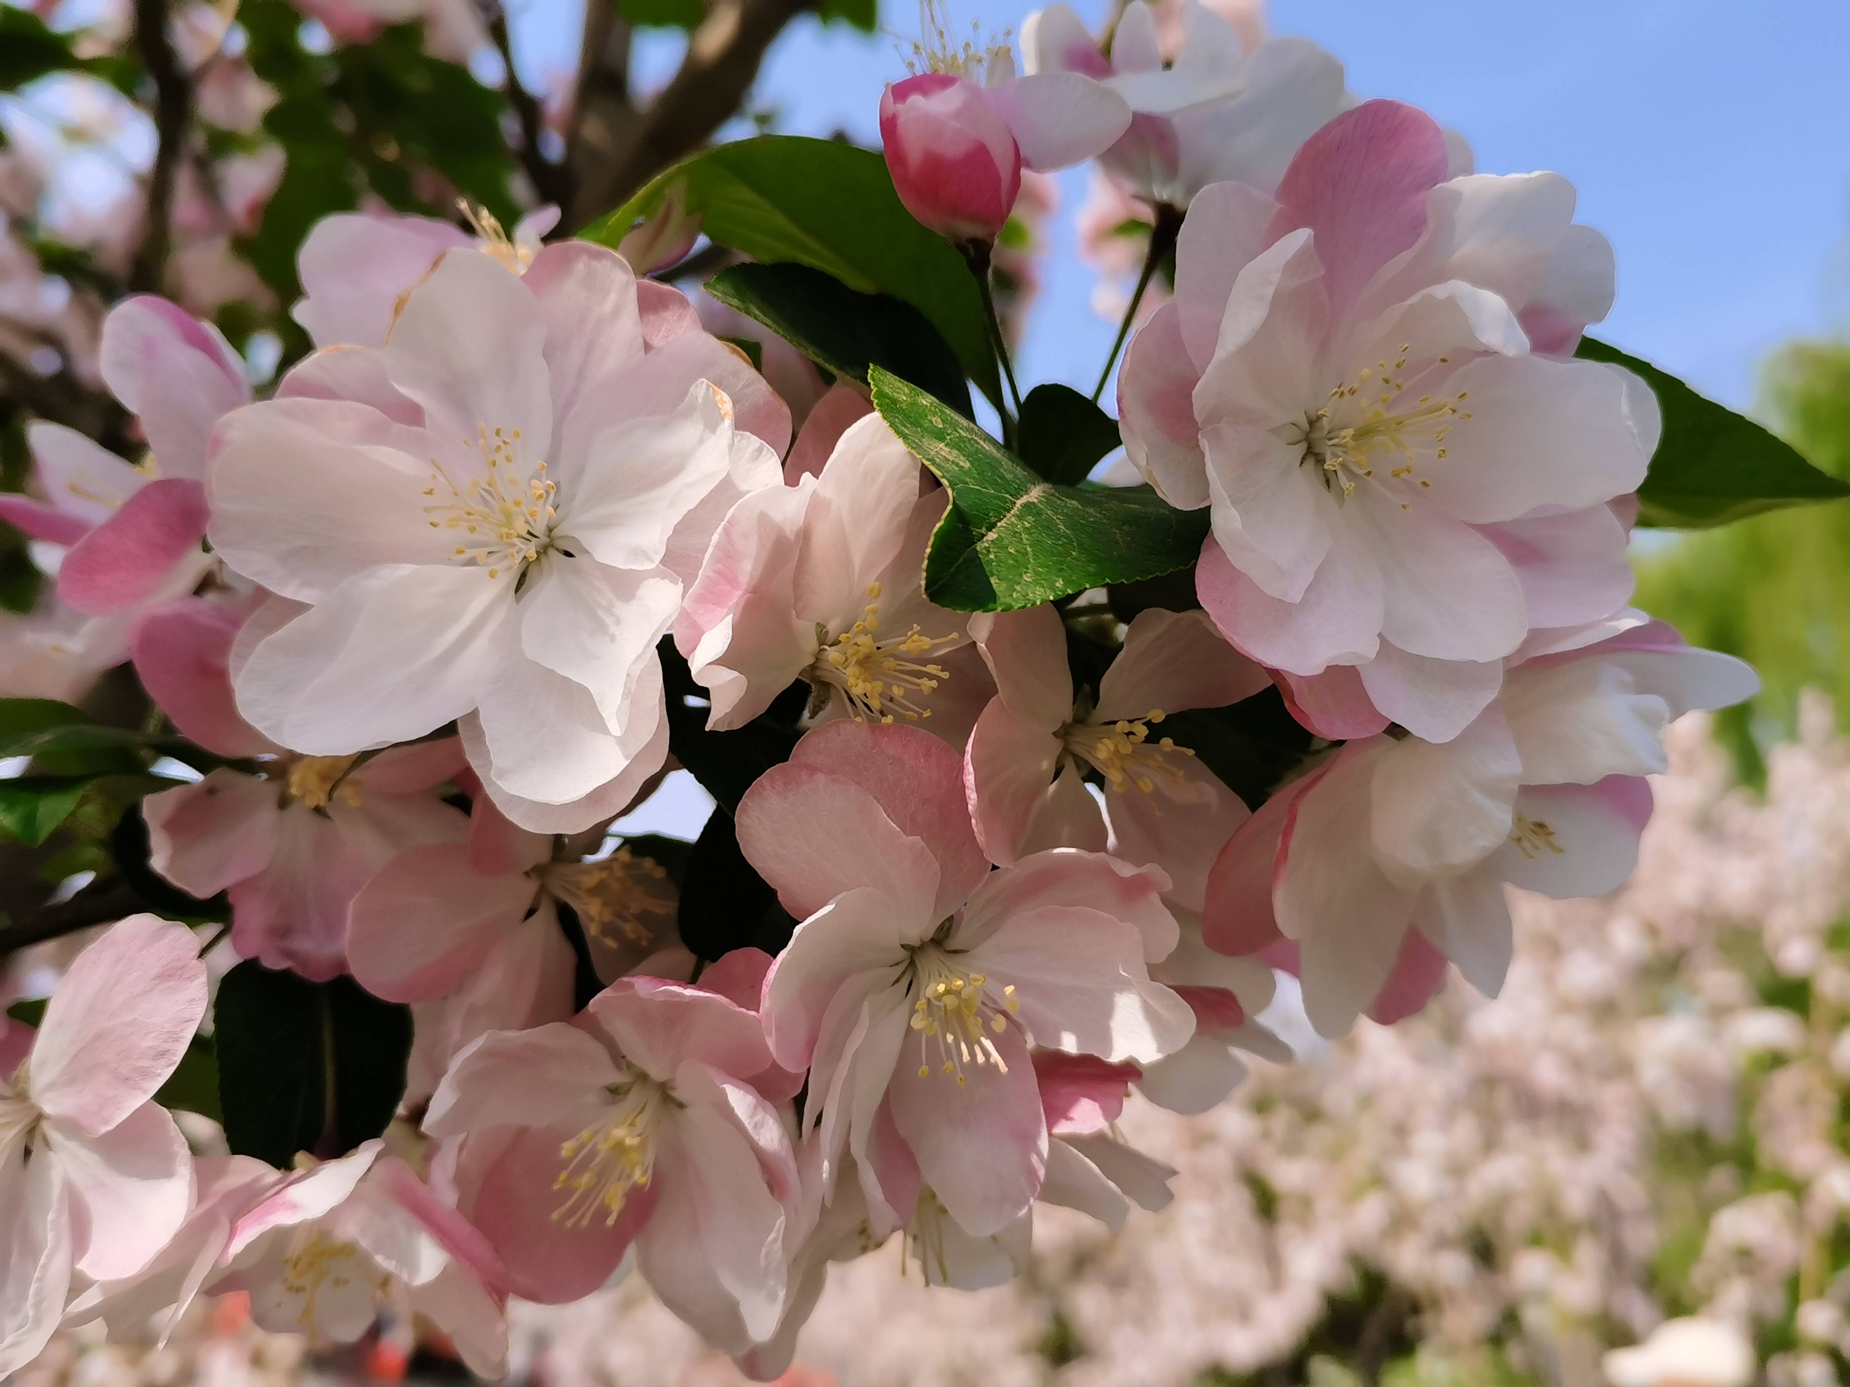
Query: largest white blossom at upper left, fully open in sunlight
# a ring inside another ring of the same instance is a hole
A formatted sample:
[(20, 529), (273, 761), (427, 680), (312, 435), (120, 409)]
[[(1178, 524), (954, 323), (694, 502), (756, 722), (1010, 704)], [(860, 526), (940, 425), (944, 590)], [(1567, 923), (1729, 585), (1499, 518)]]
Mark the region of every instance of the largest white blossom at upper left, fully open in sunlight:
[(313, 756), (457, 721), (522, 827), (622, 810), (666, 756), (655, 644), (683, 581), (788, 442), (681, 303), (651, 342), (612, 252), (548, 246), (524, 277), (457, 252), (383, 348), (320, 351), (228, 416), (213, 546), (305, 607), (244, 657), (240, 712)]

